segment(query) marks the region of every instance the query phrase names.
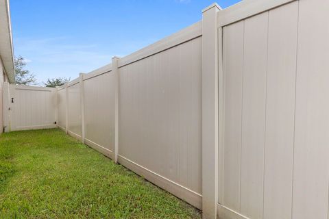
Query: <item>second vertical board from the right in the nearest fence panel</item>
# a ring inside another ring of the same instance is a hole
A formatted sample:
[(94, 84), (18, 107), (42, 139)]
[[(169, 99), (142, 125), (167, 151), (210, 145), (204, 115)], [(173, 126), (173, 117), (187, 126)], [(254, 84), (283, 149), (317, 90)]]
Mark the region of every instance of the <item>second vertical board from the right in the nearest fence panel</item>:
[(269, 12), (264, 217), (290, 218), (298, 2)]

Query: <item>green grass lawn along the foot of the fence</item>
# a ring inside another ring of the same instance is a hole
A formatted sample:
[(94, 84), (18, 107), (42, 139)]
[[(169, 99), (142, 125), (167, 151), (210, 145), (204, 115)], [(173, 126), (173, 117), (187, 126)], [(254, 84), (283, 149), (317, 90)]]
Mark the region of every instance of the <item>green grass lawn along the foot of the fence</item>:
[(59, 129), (0, 136), (0, 218), (201, 218)]

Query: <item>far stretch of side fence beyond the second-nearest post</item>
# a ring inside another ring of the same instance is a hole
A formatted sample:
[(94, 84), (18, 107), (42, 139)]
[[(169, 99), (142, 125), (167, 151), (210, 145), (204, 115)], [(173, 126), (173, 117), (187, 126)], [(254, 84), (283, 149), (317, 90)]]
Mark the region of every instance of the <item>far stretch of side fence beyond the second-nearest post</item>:
[(58, 127), (114, 159), (115, 79), (111, 67), (58, 88)]

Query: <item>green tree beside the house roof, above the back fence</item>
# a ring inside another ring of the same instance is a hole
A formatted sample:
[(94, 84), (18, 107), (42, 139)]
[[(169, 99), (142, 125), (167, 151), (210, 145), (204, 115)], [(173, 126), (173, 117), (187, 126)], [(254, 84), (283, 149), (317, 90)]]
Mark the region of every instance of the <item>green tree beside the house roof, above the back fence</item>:
[(32, 85), (36, 83), (36, 76), (30, 73), (29, 70), (24, 69), (26, 62), (21, 55), (19, 55), (19, 57), (15, 57), (14, 65), (16, 84)]

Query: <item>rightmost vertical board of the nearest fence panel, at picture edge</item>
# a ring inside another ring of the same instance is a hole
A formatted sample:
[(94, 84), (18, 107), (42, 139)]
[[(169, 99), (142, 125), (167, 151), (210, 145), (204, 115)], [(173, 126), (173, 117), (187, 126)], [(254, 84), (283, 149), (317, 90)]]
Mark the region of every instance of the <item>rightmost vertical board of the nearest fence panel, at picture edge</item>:
[(328, 218), (329, 1), (299, 1), (293, 218)]

